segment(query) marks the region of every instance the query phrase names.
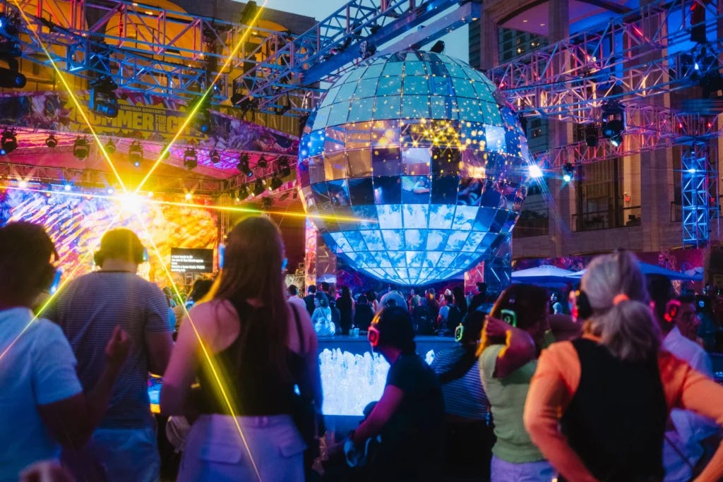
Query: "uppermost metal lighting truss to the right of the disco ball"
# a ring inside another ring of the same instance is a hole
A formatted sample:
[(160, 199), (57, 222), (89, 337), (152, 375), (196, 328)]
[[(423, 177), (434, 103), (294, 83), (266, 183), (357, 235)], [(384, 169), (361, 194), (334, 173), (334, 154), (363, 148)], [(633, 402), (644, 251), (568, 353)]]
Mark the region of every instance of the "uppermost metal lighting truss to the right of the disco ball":
[(693, 45), (690, 2), (656, 0), (501, 64), (487, 75), (521, 113), (595, 121), (604, 99), (650, 98), (717, 74), (723, 39), (716, 28), (723, 12), (716, 2), (692, 3), (706, 9), (705, 22), (697, 25), (716, 40), (681, 51)]

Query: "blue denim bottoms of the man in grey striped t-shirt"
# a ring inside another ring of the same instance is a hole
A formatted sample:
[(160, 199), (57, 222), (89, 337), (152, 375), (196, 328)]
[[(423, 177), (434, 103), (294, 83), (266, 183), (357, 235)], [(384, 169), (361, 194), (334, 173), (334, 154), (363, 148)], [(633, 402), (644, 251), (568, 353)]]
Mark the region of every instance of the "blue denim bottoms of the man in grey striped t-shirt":
[(61, 460), (78, 481), (155, 482), (161, 470), (155, 427), (96, 429), (85, 447)]

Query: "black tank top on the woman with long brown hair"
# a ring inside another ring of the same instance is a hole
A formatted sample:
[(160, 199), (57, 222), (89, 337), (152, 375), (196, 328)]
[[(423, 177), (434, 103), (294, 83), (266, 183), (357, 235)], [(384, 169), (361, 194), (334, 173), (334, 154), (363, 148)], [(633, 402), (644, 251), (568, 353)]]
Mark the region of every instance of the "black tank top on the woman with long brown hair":
[[(239, 314), (241, 324), (263, 322), (264, 316), (270, 316), (268, 309), (254, 308), (244, 300), (229, 299), (228, 301)], [(296, 331), (304, 351), (304, 337), (296, 307), (290, 305), (296, 319)], [(267, 313), (268, 315), (265, 315)], [(293, 336), (293, 335), (292, 335)], [(290, 349), (286, 349), (288, 376), (286, 379), (278, 374), (278, 369), (269, 363), (265, 356), (265, 344), (262, 343), (260, 330), (254, 325), (249, 327), (247, 342), (241, 346), (241, 337), (236, 337), (225, 350), (213, 355), (216, 366), (220, 370), (221, 380), (225, 382), (228, 397), (234, 405), (237, 416), (271, 416), (292, 413), (294, 404), (294, 384), (301, 377), (304, 358)], [(230, 415), (226, 402), (218, 391), (218, 383), (205, 361), (201, 362), (199, 371), (200, 410), (202, 413), (221, 413)]]

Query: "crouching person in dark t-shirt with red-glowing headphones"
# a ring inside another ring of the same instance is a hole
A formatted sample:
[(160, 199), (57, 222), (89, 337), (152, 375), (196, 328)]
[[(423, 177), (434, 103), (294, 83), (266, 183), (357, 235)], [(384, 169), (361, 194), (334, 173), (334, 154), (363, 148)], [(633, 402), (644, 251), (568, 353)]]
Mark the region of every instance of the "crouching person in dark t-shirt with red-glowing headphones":
[[(381, 436), (364, 480), (440, 481), (444, 455), (444, 402), (435, 372), (416, 354), (406, 306), (382, 309), (367, 333), (390, 364), (381, 399), (348, 437), (347, 460), (364, 453), (367, 440)], [(353, 462), (356, 463), (356, 462)]]

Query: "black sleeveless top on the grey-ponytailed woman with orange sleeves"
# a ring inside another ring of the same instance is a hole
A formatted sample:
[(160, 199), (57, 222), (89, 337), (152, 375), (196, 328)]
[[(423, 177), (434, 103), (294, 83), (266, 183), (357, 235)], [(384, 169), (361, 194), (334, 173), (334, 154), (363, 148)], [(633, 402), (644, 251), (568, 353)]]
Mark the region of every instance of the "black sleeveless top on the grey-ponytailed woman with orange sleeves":
[(583, 338), (573, 346), (580, 385), (560, 421), (570, 447), (599, 481), (662, 481), (668, 410), (656, 358), (621, 361)]

